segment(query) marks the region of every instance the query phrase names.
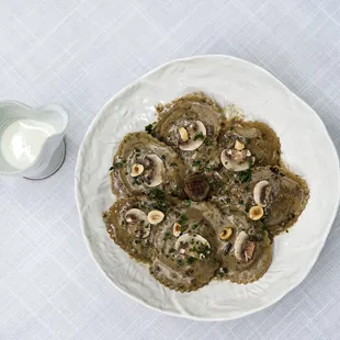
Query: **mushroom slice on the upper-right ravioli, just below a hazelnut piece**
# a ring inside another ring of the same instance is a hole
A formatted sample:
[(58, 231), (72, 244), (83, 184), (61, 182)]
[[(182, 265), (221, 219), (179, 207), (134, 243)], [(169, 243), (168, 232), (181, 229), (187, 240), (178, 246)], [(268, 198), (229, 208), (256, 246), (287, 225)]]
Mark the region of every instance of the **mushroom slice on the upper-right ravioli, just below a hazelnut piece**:
[(224, 149), (220, 152), (222, 165), (230, 171), (245, 171), (248, 170), (254, 161), (251, 152), (247, 149)]

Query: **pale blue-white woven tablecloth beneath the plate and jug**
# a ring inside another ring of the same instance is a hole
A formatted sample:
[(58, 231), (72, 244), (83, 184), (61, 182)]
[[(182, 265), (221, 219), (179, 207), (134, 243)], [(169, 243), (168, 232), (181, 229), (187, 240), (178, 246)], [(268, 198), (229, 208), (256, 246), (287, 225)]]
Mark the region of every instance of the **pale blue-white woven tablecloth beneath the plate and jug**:
[(58, 102), (70, 115), (55, 175), (0, 178), (0, 339), (340, 339), (339, 217), (299, 287), (228, 322), (148, 309), (115, 290), (88, 253), (73, 170), (90, 122), (131, 81), (200, 54), (270, 70), (315, 109), (339, 150), (339, 0), (0, 2), (0, 98)]

